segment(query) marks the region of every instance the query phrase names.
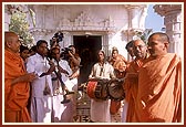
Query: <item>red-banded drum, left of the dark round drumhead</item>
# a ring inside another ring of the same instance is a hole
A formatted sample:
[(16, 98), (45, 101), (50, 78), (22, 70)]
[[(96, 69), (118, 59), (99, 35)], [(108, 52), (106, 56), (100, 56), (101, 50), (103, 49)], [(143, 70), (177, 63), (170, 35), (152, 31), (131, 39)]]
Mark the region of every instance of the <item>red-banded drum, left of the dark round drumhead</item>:
[(108, 96), (107, 83), (102, 80), (87, 82), (86, 94), (94, 99), (106, 99)]

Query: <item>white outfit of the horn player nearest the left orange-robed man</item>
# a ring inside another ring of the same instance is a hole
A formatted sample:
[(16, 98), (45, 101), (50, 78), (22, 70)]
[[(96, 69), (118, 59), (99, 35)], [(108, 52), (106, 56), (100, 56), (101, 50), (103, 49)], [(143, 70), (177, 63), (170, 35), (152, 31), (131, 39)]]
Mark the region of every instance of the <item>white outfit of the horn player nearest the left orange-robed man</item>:
[[(41, 75), (49, 70), (50, 65), (46, 59), (38, 53), (28, 57), (27, 71)], [(45, 85), (50, 87), (51, 95), (43, 95)], [(30, 115), (33, 123), (51, 123), (52, 113), (52, 81), (51, 75), (38, 77), (31, 83), (31, 106)]]

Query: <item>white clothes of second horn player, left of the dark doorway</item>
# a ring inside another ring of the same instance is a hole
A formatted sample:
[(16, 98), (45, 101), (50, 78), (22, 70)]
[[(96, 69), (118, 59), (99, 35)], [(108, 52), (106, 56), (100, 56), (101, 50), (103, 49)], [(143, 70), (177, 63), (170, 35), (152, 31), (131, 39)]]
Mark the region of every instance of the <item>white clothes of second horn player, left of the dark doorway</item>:
[[(55, 65), (56, 62), (53, 61)], [(72, 70), (70, 68), (69, 64), (66, 61), (61, 60), (59, 62), (59, 65), (68, 71), (69, 75), (72, 74)], [(58, 71), (55, 68), (55, 71)], [(61, 73), (61, 78), (64, 82), (65, 86), (68, 86), (68, 88), (72, 89), (73, 84), (71, 83), (71, 81), (69, 80), (69, 75)], [(52, 73), (52, 77), (55, 78), (56, 75), (54, 73)], [(53, 123), (72, 123), (73, 121), (73, 102), (71, 100), (70, 103), (66, 104), (61, 104), (61, 102), (63, 100), (63, 92), (62, 92), (62, 86), (59, 80), (52, 81), (52, 86), (53, 86), (53, 113), (52, 113), (52, 121)], [(60, 93), (56, 93), (56, 89), (60, 91)]]

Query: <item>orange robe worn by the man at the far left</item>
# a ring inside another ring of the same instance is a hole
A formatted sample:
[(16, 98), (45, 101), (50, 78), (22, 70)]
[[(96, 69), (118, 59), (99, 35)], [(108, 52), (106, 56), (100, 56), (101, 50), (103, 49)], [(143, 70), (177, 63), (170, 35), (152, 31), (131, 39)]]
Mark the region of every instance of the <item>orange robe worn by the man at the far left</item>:
[(27, 105), (30, 95), (29, 82), (21, 82), (11, 85), (12, 80), (24, 75), (23, 60), (19, 54), (4, 51), (4, 121), (6, 123), (29, 123)]

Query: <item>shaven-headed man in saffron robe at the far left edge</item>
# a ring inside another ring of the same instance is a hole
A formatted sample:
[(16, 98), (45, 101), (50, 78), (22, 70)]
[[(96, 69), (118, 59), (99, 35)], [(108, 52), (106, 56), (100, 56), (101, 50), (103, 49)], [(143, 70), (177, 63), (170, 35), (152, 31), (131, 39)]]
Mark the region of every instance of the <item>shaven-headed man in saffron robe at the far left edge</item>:
[(20, 40), (14, 32), (4, 32), (4, 121), (29, 123), (27, 105), (30, 83), (35, 75), (28, 74), (19, 55)]

